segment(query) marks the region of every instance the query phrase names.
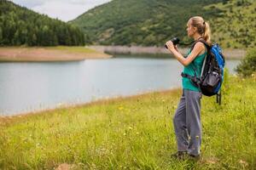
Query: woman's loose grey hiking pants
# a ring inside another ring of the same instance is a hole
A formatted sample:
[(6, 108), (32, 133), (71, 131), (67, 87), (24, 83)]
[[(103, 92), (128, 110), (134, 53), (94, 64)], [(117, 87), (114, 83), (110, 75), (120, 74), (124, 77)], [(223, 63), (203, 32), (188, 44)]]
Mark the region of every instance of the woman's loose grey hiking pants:
[(183, 95), (173, 117), (177, 150), (198, 156), (201, 146), (201, 93), (183, 89)]

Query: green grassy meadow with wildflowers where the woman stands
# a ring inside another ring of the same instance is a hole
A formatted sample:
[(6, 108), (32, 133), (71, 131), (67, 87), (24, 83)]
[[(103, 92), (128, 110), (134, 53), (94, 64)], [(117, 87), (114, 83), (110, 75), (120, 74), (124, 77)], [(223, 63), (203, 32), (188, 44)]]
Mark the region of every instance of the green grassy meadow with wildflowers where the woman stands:
[[(200, 161), (178, 161), (180, 89), (0, 119), (0, 169), (253, 169), (256, 77), (226, 76), (223, 103), (202, 99)], [(61, 165), (61, 166), (60, 166)]]

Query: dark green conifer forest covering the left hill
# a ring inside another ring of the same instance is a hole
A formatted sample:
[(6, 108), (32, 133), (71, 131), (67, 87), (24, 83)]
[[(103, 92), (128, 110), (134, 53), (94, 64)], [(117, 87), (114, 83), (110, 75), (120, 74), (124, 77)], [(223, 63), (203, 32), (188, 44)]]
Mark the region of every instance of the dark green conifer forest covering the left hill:
[(84, 45), (84, 33), (77, 26), (0, 0), (0, 45)]

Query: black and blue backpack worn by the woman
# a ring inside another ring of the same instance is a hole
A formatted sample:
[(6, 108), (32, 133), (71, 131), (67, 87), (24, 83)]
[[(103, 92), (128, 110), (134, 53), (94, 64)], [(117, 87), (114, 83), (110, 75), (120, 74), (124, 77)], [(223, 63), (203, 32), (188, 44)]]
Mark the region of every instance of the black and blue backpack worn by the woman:
[(182, 77), (187, 77), (195, 85), (200, 88), (201, 93), (206, 96), (217, 96), (217, 103), (221, 104), (221, 85), (224, 80), (224, 55), (218, 44), (208, 45), (203, 39), (197, 40), (193, 43), (191, 51), (195, 47), (196, 42), (202, 42), (207, 47), (207, 56), (204, 59), (201, 75), (196, 74), (194, 61), (192, 61), (192, 67), (195, 72), (194, 77), (188, 74), (182, 73)]

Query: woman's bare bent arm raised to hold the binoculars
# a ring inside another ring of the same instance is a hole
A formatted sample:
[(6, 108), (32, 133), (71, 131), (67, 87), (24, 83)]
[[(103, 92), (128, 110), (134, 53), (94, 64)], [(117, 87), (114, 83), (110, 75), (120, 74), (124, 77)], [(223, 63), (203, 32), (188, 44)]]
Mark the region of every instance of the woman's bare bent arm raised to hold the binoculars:
[(192, 52), (189, 54), (187, 58), (184, 58), (182, 54), (180, 54), (177, 49), (174, 47), (172, 41), (166, 42), (167, 48), (172, 52), (174, 57), (184, 66), (189, 65), (198, 54), (205, 49), (204, 44), (202, 42), (195, 43), (195, 47), (193, 48)]

